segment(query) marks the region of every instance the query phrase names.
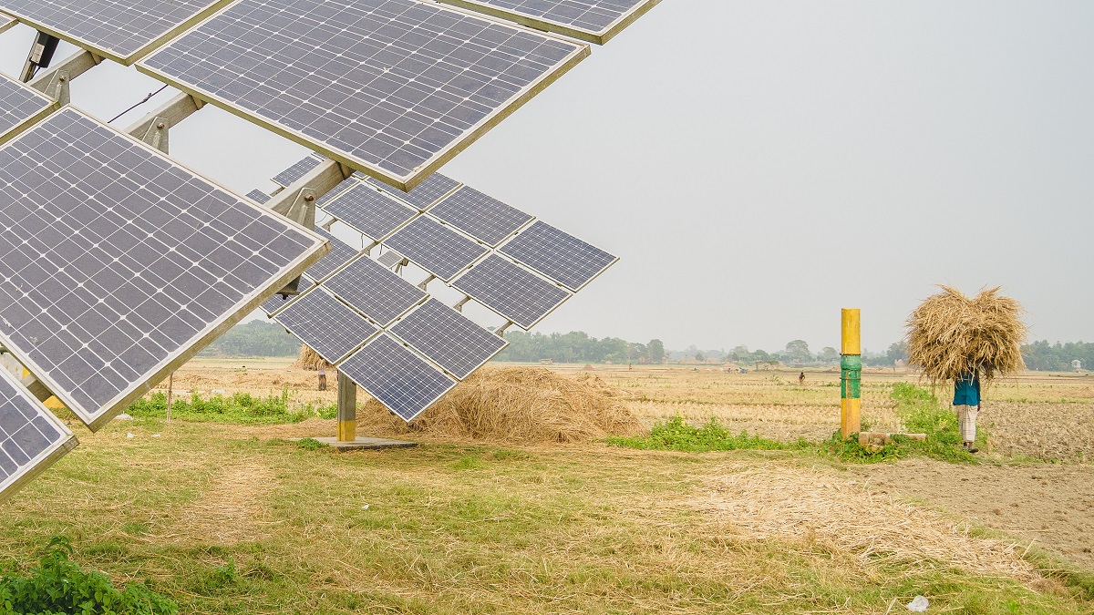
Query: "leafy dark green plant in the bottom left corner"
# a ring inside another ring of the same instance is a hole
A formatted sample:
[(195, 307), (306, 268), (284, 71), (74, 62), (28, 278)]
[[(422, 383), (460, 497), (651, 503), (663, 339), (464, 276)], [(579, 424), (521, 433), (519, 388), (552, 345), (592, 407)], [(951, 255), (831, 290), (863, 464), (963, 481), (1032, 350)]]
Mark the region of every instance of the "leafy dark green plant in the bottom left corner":
[(143, 583), (118, 590), (102, 572), (71, 560), (72, 545), (54, 537), (27, 577), (0, 576), (0, 615), (175, 615), (178, 605)]

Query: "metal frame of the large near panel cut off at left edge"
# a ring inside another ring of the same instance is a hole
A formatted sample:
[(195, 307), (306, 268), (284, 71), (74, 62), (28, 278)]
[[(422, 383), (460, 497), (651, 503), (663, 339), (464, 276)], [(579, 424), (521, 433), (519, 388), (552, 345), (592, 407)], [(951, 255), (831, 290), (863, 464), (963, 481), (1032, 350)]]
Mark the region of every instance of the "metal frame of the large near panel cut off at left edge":
[[(90, 116), (89, 114), (81, 112), (80, 109), (77, 109), (75, 107), (66, 106), (65, 109), (66, 111), (71, 109), (73, 113), (77, 113), (80, 116), (95, 123), (101, 128), (113, 130), (114, 132), (126, 138), (135, 147), (143, 149), (146, 152), (148, 152), (153, 156), (163, 159), (171, 166), (181, 169), (186, 174), (193, 175), (208, 183), (214, 188), (219, 188), (220, 190), (223, 190), (228, 195), (241, 199), (242, 202), (247, 202), (246, 199), (236, 196), (235, 193), (225, 188), (221, 184), (205, 177), (200, 173), (197, 173), (196, 171), (193, 171), (183, 164), (179, 164), (176, 160), (164, 155), (163, 152), (149, 146), (148, 143), (135, 139), (129, 135), (126, 135), (125, 132), (121, 132), (116, 128), (106, 125), (103, 121), (97, 120), (94, 117)], [(27, 134), (28, 131), (24, 131), (15, 139), (12, 139), (11, 141), (4, 143), (3, 146), (0, 146), (0, 151), (16, 143)], [(278, 216), (277, 213), (274, 213), (272, 211), (260, 206), (252, 206), (252, 207), (254, 207), (263, 216), (276, 220), (277, 223), (279, 224), (284, 224), (288, 227), (295, 228), (300, 231), (303, 231), (305, 234), (311, 234), (314, 236), (314, 233), (312, 231), (304, 229), (303, 227), (293, 222), (292, 220)], [(322, 241), (322, 237), (316, 236), (315, 239)], [(317, 241), (316, 243), (314, 243), (310, 252), (305, 251), (301, 256), (290, 262), (289, 265), (286, 265), (282, 268), (282, 274), (280, 277), (275, 278), (274, 281), (268, 282), (267, 286), (265, 287), (259, 287), (260, 290), (254, 291), (245, 295), (243, 299), (241, 299), (238, 302), (232, 305), (232, 308), (230, 308), (225, 312), (228, 314), (226, 317), (222, 317), (219, 321), (206, 323), (205, 328), (202, 328), (201, 332), (195, 336), (195, 338), (191, 338), (195, 340), (193, 344), (184, 346), (173, 352), (168, 352), (167, 357), (160, 363), (158, 363), (159, 367), (154, 368), (154, 371), (146, 372), (147, 375), (142, 378), (141, 381), (137, 383), (130, 383), (129, 386), (124, 388), (114, 398), (112, 398), (109, 402), (107, 402), (101, 408), (98, 408), (101, 410), (98, 414), (89, 411), (89, 409), (84, 408), (82, 404), (73, 399), (72, 396), (69, 394), (69, 392), (66, 391), (66, 388), (61, 386), (56, 380), (53, 379), (49, 370), (44, 369), (42, 365), (37, 364), (37, 362), (35, 362), (33, 359), (27, 357), (23, 352), (23, 350), (18, 345), (15, 345), (2, 329), (0, 329), (0, 346), (3, 346), (9, 352), (11, 352), (11, 355), (15, 357), (15, 359), (19, 360), (19, 362), (22, 363), (27, 371), (34, 374), (34, 376), (38, 379), (46, 386), (46, 388), (49, 390), (50, 393), (57, 396), (57, 398), (60, 399), (66, 407), (72, 410), (80, 418), (80, 420), (82, 420), (88, 426), (89, 429), (91, 429), (92, 431), (97, 431), (105, 423), (109, 422), (118, 413), (124, 410), (129, 404), (133, 403), (142, 395), (144, 395), (144, 393), (148, 392), (148, 390), (150, 390), (152, 385), (154, 385), (158, 382), (161, 382), (170, 373), (176, 371), (179, 367), (182, 367), (184, 363), (190, 360), (195, 355), (201, 351), (201, 349), (203, 349), (206, 346), (214, 341), (218, 337), (220, 337), (230, 328), (232, 328), (233, 325), (235, 325), (244, 317), (246, 317), (247, 314), (259, 309), (263, 302), (265, 302), (271, 295), (276, 294), (276, 291), (284, 288), (286, 285), (288, 285), (290, 281), (299, 277), (301, 274), (303, 274), (304, 269), (306, 269), (307, 267), (319, 260), (329, 250), (330, 245), (326, 242), (321, 243)]]

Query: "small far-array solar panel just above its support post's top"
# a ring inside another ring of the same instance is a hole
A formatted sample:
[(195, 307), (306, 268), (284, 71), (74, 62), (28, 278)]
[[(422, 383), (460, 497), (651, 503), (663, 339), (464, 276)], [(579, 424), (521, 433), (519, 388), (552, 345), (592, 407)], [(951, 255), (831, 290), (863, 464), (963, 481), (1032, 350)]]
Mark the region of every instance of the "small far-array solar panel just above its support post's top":
[(380, 330), (322, 289), (301, 295), (274, 320), (331, 363), (340, 361)]

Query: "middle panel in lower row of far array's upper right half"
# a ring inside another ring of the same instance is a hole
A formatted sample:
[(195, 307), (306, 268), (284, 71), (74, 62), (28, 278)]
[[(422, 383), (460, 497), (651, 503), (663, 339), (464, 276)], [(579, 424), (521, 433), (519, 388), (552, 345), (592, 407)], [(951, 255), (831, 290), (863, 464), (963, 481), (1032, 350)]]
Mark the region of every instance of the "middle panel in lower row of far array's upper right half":
[(410, 222), (384, 244), (445, 281), (487, 253), (487, 248), (428, 216)]

